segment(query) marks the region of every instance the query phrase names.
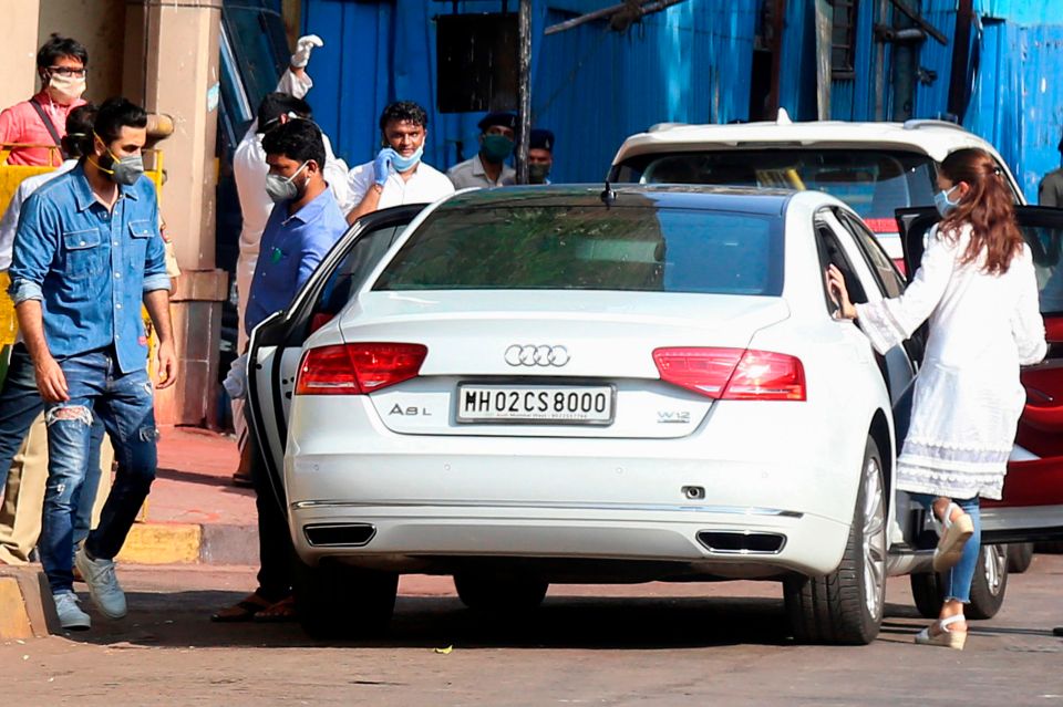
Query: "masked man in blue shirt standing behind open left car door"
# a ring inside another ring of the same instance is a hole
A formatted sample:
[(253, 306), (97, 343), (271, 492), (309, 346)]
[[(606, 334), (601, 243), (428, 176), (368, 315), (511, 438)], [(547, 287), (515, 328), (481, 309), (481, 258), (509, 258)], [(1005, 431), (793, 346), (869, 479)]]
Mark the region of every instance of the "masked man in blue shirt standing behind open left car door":
[[(262, 137), (266, 193), (274, 210), (266, 221), (251, 280), (244, 326), (247, 334), (266, 318), (288, 306), (324, 256), (347, 230), (336, 198), (323, 177), (324, 143), (310, 121), (292, 119)], [(220, 622), (283, 621), (293, 617), (291, 560), (295, 550), (288, 519), (272, 496), (255, 432), (249, 427), (251, 481), (257, 496), (258, 589), (211, 618)]]

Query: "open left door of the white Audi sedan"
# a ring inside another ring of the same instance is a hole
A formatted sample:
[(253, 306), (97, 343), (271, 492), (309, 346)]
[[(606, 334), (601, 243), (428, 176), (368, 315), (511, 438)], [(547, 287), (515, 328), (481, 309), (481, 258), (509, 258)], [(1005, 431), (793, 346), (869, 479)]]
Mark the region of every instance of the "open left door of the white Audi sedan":
[(302, 344), (336, 316), (425, 204), (398, 206), (358, 219), (337, 241), (288, 309), (251, 332), (248, 347), (247, 405), (270, 485), (281, 508), (288, 410)]

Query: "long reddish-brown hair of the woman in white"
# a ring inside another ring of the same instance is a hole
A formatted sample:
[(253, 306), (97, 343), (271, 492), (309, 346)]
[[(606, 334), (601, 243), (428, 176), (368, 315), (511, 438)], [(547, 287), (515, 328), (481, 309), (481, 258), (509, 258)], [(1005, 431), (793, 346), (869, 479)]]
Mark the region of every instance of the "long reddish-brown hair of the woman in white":
[(963, 223), (971, 226), (971, 241), (960, 262), (974, 262), (985, 251), (983, 270), (1003, 274), (1011, 259), (1022, 252), (1022, 233), (1015, 223), (1014, 197), (997, 163), (983, 149), (958, 149), (941, 163), (941, 173), (953, 185), (970, 189), (941, 220), (940, 232), (954, 238)]

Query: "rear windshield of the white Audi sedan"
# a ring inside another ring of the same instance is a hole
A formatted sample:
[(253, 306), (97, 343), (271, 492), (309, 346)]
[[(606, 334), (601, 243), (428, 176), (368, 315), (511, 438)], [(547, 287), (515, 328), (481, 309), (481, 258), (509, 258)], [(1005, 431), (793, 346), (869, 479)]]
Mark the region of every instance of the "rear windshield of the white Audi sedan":
[(778, 215), (656, 207), (435, 211), (374, 290), (619, 290), (777, 295)]

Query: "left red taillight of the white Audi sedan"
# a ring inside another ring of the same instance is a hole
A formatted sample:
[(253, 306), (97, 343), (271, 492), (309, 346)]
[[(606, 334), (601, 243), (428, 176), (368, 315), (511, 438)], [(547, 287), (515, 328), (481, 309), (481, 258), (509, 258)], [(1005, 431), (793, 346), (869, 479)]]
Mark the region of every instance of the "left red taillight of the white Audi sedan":
[(357, 343), (311, 349), (302, 356), (296, 395), (364, 395), (414, 378), (422, 344)]

